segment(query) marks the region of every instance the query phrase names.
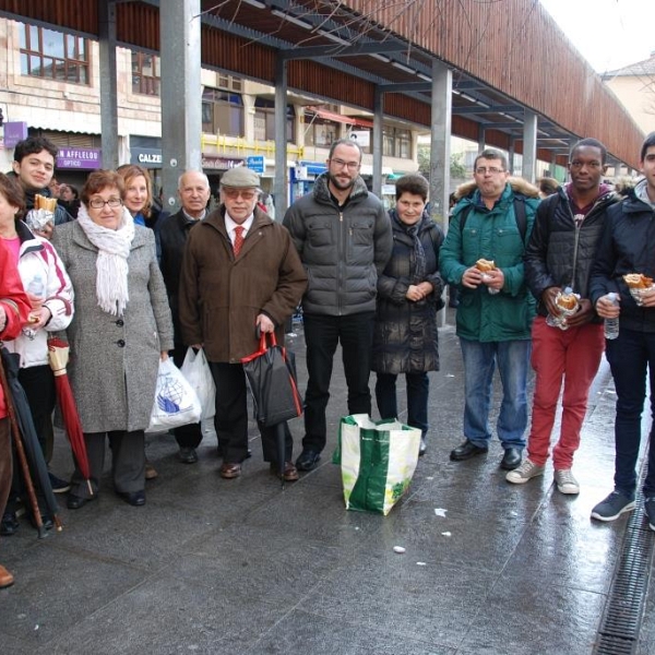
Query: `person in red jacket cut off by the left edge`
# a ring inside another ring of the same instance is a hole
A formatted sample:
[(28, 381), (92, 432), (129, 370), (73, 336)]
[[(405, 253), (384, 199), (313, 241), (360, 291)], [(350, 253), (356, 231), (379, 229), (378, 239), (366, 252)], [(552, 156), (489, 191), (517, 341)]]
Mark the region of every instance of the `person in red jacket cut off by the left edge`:
[[(0, 194), (0, 209), (7, 200)], [(17, 207), (16, 207), (17, 210)], [(0, 340), (19, 336), (27, 322), (31, 305), (10, 253), (0, 240)], [(4, 509), (11, 486), (11, 431), (7, 402), (0, 386), (0, 510)], [(1, 513), (1, 512), (0, 512)], [(13, 575), (0, 564), (0, 590), (13, 584)]]

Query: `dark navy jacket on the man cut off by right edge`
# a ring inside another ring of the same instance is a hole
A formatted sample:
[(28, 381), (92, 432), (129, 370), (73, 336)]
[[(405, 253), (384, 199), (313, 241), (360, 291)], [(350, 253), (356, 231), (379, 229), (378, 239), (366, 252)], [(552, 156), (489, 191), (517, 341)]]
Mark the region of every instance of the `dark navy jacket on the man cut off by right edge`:
[(619, 329), (655, 332), (655, 309), (636, 305), (623, 281), (627, 273), (655, 277), (655, 210), (641, 201), (634, 190), (607, 213), (592, 267), (590, 298), (595, 306), (600, 296), (620, 293)]

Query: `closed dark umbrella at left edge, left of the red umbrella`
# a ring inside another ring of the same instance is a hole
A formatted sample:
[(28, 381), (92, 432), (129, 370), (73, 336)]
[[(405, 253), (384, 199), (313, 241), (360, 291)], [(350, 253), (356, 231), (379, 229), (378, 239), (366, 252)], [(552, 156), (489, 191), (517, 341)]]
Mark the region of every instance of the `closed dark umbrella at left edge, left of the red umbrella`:
[(34, 483), (32, 480), (31, 471), (36, 475), (38, 486), (46, 503), (47, 512), (52, 516), (52, 521), (58, 531), (61, 529), (61, 521), (59, 520), (59, 505), (52, 492), (50, 476), (48, 475), (48, 466), (44, 458), (36, 428), (32, 419), (32, 410), (25, 395), (24, 389), (19, 382), (19, 360), (20, 356), (15, 353), (9, 353), (7, 348), (1, 349), (0, 357), (0, 384), (4, 392), (4, 402), (7, 403), (7, 412), (11, 424), (12, 437), (21, 464), (21, 473), (23, 481), (29, 497), (29, 505), (34, 522), (38, 531), (39, 538), (47, 536), (46, 529), (40, 515), (38, 501)]

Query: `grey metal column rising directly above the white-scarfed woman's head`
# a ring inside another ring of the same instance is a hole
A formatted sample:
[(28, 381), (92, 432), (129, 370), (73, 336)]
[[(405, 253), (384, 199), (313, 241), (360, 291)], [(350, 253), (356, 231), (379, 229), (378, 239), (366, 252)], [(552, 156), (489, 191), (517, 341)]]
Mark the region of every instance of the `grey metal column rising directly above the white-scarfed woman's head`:
[(100, 58), (100, 146), (103, 168), (118, 167), (118, 99), (116, 80), (116, 3), (98, 0)]

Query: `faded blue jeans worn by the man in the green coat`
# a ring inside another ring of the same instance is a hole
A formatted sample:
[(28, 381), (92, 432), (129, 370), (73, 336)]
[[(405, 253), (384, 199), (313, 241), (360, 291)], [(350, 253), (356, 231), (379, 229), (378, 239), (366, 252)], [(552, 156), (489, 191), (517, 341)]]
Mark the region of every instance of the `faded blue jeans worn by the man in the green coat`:
[(502, 404), (496, 430), (503, 448), (525, 446), (529, 340), (481, 343), (460, 338), (464, 359), (464, 436), (479, 448), (491, 439), (489, 409), (498, 364)]

